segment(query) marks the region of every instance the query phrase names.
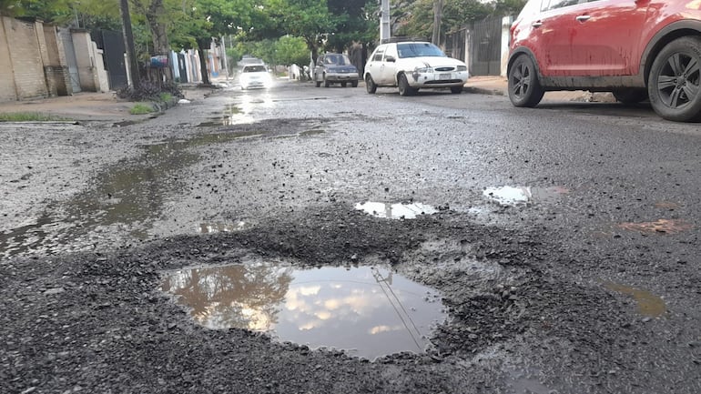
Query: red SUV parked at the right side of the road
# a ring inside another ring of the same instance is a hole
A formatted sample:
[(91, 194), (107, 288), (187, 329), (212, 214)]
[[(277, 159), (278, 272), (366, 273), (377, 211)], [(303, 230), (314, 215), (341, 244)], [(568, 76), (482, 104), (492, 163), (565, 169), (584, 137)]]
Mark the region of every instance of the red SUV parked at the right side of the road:
[(700, 72), (701, 0), (530, 0), (511, 27), (514, 106), (589, 90), (699, 121)]

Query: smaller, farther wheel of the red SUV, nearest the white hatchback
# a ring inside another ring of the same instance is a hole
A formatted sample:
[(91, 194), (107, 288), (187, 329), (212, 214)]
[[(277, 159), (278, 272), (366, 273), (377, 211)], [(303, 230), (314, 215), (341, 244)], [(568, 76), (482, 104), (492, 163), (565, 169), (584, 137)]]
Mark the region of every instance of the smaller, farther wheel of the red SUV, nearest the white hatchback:
[(509, 69), (509, 99), (513, 106), (537, 106), (545, 91), (538, 82), (530, 56), (516, 57)]

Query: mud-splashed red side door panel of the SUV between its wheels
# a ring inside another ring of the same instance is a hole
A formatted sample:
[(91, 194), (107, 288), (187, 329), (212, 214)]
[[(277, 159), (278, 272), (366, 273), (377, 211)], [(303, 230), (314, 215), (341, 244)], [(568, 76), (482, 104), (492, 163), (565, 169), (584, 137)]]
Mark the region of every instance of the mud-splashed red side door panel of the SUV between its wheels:
[[(646, 1), (552, 0), (540, 26), (544, 76), (637, 73)], [(548, 16), (549, 15), (549, 16)]]

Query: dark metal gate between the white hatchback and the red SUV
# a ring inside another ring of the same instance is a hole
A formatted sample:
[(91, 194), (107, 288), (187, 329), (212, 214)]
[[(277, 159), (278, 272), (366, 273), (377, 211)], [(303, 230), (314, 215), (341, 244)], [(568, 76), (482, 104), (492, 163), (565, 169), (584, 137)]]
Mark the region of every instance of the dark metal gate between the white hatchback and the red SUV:
[(502, 16), (472, 25), (470, 35), (470, 74), (499, 76), (502, 67)]

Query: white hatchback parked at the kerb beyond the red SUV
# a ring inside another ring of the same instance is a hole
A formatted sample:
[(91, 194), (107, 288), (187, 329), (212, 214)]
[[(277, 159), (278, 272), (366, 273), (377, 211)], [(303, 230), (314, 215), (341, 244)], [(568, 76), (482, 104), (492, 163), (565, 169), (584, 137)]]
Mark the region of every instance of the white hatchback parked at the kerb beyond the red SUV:
[(363, 79), (370, 94), (379, 86), (397, 86), (401, 96), (411, 96), (427, 87), (461, 93), (467, 77), (467, 66), (445, 56), (438, 46), (407, 41), (378, 45), (368, 58)]

